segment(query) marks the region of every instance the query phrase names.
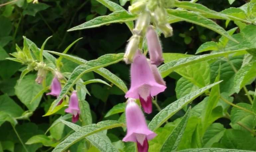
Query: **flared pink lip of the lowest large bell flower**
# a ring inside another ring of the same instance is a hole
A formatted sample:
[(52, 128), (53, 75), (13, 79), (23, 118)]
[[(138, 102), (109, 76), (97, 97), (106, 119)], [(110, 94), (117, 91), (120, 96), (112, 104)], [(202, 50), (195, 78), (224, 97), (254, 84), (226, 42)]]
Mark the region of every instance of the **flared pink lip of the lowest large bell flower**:
[(122, 141), (125, 141), (125, 142), (127, 142), (127, 141), (137, 142), (136, 133), (145, 134), (148, 140), (151, 140), (155, 136), (157, 136), (156, 133), (152, 132), (149, 129), (147, 129), (147, 130), (140, 130), (140, 131), (138, 130), (138, 131), (133, 131), (133, 132), (127, 133)]

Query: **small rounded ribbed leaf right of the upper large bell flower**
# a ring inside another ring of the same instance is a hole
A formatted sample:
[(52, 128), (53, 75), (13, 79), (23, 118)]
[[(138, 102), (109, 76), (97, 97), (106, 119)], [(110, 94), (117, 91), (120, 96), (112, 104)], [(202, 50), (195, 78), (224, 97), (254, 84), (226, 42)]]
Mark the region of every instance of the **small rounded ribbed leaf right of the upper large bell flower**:
[(175, 87), (177, 99), (185, 95), (188, 95), (198, 89), (199, 87), (195, 86), (192, 82), (182, 77), (177, 81), (176, 87)]

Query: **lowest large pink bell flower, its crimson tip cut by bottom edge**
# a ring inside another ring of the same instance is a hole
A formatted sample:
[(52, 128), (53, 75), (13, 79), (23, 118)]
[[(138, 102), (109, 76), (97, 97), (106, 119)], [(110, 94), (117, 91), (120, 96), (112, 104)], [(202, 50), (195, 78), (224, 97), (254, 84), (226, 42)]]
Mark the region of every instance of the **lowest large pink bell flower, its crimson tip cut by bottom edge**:
[(145, 117), (135, 99), (129, 98), (125, 109), (127, 134), (123, 141), (136, 142), (138, 152), (148, 152), (148, 140), (157, 134), (149, 130)]

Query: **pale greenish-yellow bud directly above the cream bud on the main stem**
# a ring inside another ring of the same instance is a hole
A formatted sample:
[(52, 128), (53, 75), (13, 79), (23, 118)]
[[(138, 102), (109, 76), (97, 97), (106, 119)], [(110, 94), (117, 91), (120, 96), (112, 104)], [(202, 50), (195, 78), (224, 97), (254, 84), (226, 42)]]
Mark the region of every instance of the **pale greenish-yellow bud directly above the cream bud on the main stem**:
[(144, 35), (150, 23), (150, 18), (150, 13), (148, 11), (141, 13), (136, 21), (136, 26), (133, 29), (133, 33), (137, 35)]

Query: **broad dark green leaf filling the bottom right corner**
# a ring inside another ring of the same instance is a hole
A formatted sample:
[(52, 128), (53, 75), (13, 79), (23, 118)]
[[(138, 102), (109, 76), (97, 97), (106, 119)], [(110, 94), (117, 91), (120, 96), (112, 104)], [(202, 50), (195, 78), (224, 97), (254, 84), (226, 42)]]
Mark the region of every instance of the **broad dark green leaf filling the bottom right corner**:
[(223, 148), (256, 150), (256, 138), (251, 133), (241, 130), (226, 130), (220, 143), (223, 145)]

